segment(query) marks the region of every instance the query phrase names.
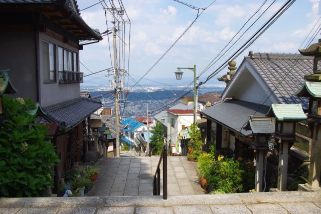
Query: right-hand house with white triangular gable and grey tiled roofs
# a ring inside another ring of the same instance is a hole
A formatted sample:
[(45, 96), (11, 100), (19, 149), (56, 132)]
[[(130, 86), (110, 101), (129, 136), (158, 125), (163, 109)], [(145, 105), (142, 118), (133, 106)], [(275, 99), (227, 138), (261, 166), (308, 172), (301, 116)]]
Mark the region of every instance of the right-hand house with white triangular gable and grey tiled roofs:
[(303, 76), (310, 74), (313, 57), (298, 56), (245, 56), (223, 91), (224, 101), (201, 111), (201, 116), (208, 119), (207, 142), (226, 155), (253, 156), (249, 148), (252, 131), (243, 129), (249, 115), (264, 115), (272, 103), (299, 103), (307, 110), (308, 99), (294, 94), (301, 88)]

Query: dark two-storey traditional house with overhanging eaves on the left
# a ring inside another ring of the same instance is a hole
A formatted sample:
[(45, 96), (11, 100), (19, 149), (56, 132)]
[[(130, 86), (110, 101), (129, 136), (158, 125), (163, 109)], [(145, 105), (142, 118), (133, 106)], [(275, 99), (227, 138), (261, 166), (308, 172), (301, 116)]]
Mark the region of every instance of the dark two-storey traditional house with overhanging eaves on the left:
[(41, 122), (57, 126), (50, 129), (61, 159), (57, 189), (62, 172), (83, 160), (86, 118), (101, 106), (80, 96), (79, 50), (102, 37), (81, 18), (76, 0), (2, 0), (0, 22), (0, 69), (11, 70), (18, 89), (12, 96), (38, 102)]

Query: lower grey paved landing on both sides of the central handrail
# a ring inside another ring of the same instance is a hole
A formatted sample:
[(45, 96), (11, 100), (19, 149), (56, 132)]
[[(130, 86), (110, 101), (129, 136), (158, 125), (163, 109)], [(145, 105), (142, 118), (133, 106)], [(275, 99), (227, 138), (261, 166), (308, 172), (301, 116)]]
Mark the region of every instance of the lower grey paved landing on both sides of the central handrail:
[[(159, 156), (102, 158), (100, 174), (86, 196), (152, 195), (152, 177)], [(187, 157), (168, 157), (168, 194), (205, 194), (196, 174), (196, 162)], [(163, 194), (163, 163), (161, 163), (161, 194)]]

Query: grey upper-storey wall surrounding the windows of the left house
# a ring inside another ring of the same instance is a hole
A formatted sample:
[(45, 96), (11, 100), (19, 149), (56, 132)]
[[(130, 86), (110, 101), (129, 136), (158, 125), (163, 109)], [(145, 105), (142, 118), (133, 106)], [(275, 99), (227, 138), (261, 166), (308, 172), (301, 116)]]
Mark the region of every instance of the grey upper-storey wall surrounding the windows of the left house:
[[(62, 41), (54, 39), (44, 33), (39, 35), (39, 45), (40, 53), (42, 53), (42, 41), (46, 40), (55, 44), (55, 68), (56, 68), (56, 82), (55, 83), (44, 83), (44, 72), (42, 64), (42, 54), (40, 54), (40, 102), (43, 107), (53, 105), (59, 102), (67, 101), (74, 99), (80, 96), (80, 83), (64, 83), (59, 84), (59, 75), (58, 75), (58, 45), (65, 47), (71, 51), (74, 51), (78, 54), (79, 59), (79, 50), (74, 48)], [(79, 60), (77, 60), (77, 66), (79, 71)]]

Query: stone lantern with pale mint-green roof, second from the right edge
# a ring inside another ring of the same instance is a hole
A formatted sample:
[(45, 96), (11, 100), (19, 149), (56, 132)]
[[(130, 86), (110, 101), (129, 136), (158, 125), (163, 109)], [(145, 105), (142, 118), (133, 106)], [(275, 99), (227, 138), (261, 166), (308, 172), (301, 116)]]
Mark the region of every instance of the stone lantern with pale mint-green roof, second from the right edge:
[(274, 138), (279, 143), (277, 188), (286, 190), (288, 153), (295, 140), (295, 124), (305, 120), (301, 104), (272, 104), (267, 116), (275, 117)]

